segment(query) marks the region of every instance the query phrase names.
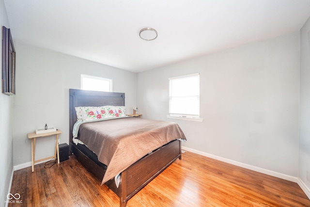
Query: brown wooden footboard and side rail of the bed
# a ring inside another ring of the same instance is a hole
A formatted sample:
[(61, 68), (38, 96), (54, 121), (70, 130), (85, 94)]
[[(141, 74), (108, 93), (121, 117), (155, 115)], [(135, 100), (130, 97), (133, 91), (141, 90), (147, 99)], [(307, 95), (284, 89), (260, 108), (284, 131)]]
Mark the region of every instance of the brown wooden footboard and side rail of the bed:
[[(96, 177), (103, 178), (105, 169), (102, 169), (93, 160), (86, 157), (74, 144), (70, 144), (70, 149), (78, 160)], [(120, 206), (125, 207), (127, 201), (133, 195), (151, 182), (177, 158), (181, 159), (181, 141), (174, 140), (159, 147), (124, 170), (120, 175), (119, 188), (116, 187), (114, 179), (105, 184), (120, 197)]]

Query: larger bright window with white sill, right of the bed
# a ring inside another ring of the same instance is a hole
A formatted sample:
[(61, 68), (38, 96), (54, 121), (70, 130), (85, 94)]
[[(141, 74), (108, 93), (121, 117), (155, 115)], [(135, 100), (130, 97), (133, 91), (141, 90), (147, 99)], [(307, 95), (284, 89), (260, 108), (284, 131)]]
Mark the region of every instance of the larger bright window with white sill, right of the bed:
[[(169, 113), (168, 118), (199, 118), (200, 108), (199, 74), (169, 79)], [(195, 120), (198, 121), (198, 120)]]

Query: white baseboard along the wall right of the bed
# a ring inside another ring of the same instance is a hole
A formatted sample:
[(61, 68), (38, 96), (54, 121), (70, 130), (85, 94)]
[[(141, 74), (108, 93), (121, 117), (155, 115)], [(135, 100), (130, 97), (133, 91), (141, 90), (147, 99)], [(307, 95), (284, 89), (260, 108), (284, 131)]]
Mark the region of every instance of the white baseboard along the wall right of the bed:
[[(271, 171), (271, 170), (266, 170), (266, 169), (263, 169), (263, 168), (260, 168), (260, 167), (255, 167), (253, 165), (248, 165), (248, 164), (245, 164), (245, 163), (242, 163), (242, 162), (234, 161), (232, 159), (222, 158), (222, 157), (219, 157), (219, 156), (216, 156), (216, 155), (212, 155), (212, 154), (209, 154), (209, 153), (201, 152), (201, 151), (198, 151), (198, 150), (195, 150), (195, 149), (191, 149), (191, 148), (188, 148), (188, 147), (184, 147), (184, 146), (182, 146), (182, 149), (186, 150), (186, 151), (189, 151), (189, 152), (193, 152), (193, 153), (202, 155), (202, 156), (205, 156), (205, 157), (208, 157), (208, 158), (217, 159), (219, 161), (223, 161), (223, 162), (226, 162), (226, 163), (229, 163), (229, 164), (233, 164), (233, 165), (236, 165), (236, 166), (239, 166), (239, 167), (243, 167), (243, 168), (246, 168), (246, 169), (249, 169), (249, 170), (253, 170), (253, 171), (256, 171), (256, 172), (259, 172), (259, 173), (263, 173), (263, 174), (266, 174), (266, 175), (271, 175), (271, 176), (274, 176), (274, 177), (279, 177), (279, 178), (282, 178), (284, 180), (289, 180), (289, 181), (292, 181), (292, 182), (295, 182), (295, 183), (299, 184), (298, 177), (294, 177), (294, 176), (291, 176), (291, 175), (285, 175), (285, 174), (274, 172), (274, 171)], [(308, 195), (308, 197), (309, 197), (309, 195)]]

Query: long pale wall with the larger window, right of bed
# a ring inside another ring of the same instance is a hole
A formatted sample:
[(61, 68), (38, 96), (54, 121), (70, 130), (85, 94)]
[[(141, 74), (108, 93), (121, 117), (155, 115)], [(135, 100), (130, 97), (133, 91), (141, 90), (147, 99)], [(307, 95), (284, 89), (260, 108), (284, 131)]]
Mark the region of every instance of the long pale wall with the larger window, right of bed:
[(177, 122), (183, 146), (297, 177), (299, 32), (141, 72), (144, 118), (167, 120), (168, 78), (200, 73), (202, 123)]

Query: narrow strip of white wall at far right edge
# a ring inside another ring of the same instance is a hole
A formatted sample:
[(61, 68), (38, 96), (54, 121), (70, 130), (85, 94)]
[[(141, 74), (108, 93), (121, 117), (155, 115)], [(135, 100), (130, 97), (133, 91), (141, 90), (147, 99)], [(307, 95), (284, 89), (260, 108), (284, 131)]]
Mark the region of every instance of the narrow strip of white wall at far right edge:
[(300, 32), (299, 178), (310, 197), (310, 19)]

